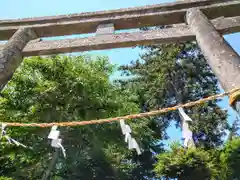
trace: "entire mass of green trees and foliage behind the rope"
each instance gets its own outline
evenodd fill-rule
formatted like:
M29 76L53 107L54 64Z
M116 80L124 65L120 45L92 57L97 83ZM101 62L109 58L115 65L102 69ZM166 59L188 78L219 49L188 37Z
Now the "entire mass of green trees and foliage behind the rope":
M220 92L195 42L142 48L147 51L139 60L120 68L129 78L114 82L110 77L117 68L107 57L26 58L1 92L1 121L110 118ZM7 127L7 134L27 148L1 139L0 179L240 179L238 123L228 124L228 114L218 102L184 109L193 120L190 129L196 148L163 145L170 122L181 128L178 111L127 121L142 149L139 156L128 150L118 122L59 127L66 159L51 147L50 128Z

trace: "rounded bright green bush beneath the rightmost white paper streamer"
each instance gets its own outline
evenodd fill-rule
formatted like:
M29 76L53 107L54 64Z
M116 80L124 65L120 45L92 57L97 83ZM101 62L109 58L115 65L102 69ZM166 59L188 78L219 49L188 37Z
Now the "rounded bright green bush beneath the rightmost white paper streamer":
M219 166L217 151L203 149L185 149L173 144L166 153L157 156L155 171L159 177L179 180L217 179Z

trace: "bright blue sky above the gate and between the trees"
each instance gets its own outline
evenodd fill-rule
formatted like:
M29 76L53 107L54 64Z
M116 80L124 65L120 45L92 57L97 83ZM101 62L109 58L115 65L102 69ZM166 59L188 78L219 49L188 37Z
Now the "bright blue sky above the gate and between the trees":
M25 18L36 16L51 16L69 13L89 12L98 10L109 10L127 8L134 6L174 2L175 0L5 0L1 2L0 19ZM232 47L240 53L240 33L231 34L225 37ZM104 51L93 51L90 54L108 56L114 64L127 64L136 60L141 53L138 48L124 48ZM228 107L228 99L224 98L221 103L224 108ZM234 113L230 110L229 121L231 122ZM170 141L179 140L181 133L174 128L168 130Z

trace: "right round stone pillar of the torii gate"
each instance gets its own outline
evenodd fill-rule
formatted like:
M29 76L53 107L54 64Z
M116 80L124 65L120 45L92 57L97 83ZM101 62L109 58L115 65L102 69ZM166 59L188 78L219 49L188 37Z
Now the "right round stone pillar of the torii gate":
M187 11L186 23L196 35L197 43L222 88L240 88L240 57L197 8ZM230 96L230 105L239 112L240 91Z

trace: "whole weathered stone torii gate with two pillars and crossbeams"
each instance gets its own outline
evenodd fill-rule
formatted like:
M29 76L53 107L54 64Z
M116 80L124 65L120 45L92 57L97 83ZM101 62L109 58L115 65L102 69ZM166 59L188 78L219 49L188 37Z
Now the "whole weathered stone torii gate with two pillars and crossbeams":
M116 30L173 25L144 32ZM136 8L0 21L0 87L23 57L196 40L225 91L240 87L240 57L223 34L240 31L239 0L187 0ZM42 37L95 33L88 38ZM240 92L230 97L235 108Z

